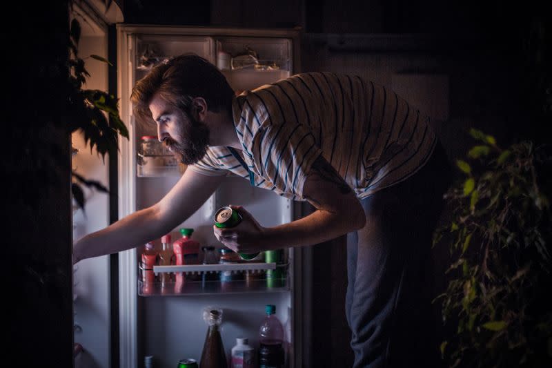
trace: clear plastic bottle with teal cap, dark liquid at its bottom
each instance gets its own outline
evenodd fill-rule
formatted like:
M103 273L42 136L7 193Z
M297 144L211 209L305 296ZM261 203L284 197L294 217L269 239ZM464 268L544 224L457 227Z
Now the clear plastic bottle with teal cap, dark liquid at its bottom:
M266 304L266 317L259 329L259 368L283 368L284 327L275 316L276 306Z

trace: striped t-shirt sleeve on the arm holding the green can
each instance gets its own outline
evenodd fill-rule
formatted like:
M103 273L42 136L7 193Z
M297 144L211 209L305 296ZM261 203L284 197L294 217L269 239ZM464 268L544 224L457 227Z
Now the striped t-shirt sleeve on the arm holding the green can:
M309 126L284 122L259 128L252 153L262 176L282 191L303 198L306 177L322 151Z

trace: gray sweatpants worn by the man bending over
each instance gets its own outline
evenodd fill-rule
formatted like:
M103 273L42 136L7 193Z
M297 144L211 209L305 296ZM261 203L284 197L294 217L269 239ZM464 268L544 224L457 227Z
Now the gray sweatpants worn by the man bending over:
M366 226L348 234L346 317L354 367L435 367L432 233L451 166L440 144L408 180L362 200Z

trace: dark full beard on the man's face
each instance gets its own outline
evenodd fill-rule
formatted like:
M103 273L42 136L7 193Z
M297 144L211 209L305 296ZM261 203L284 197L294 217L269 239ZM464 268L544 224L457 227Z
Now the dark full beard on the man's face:
M186 134L180 134L180 139L186 137L186 142L179 143L167 137L164 144L170 147L170 151L175 154L182 164L191 165L204 157L209 143L209 128L202 122L190 117L190 124L182 129L187 130Z

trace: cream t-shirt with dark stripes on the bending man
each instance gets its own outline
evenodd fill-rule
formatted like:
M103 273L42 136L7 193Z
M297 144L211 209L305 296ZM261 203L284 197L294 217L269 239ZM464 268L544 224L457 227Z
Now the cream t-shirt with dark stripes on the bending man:
M321 154L362 199L413 175L437 142L427 116L356 75L308 72L246 91L233 117L242 150L209 146L189 168L239 175L293 200L304 200Z

